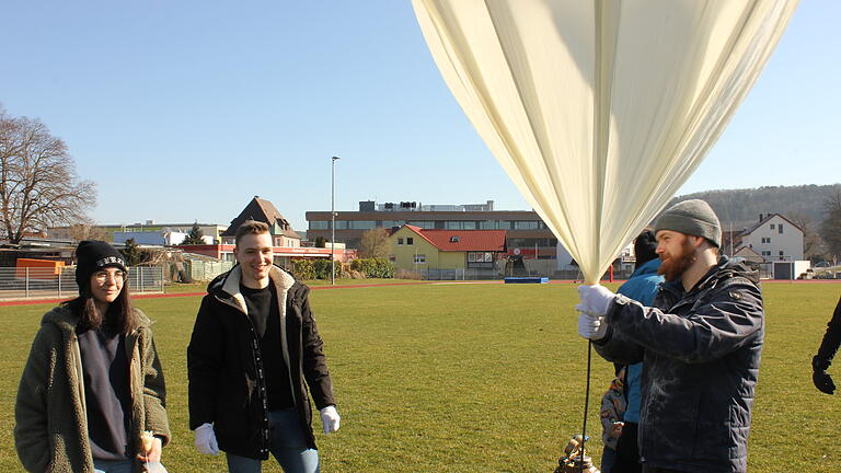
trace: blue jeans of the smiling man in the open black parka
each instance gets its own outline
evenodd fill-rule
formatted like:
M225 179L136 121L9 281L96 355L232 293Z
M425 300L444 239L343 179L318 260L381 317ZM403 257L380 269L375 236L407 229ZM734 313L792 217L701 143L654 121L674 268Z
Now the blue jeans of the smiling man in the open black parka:
M268 450L286 473L319 473L319 451L307 446L296 409L268 413ZM260 473L261 460L226 453L230 473Z

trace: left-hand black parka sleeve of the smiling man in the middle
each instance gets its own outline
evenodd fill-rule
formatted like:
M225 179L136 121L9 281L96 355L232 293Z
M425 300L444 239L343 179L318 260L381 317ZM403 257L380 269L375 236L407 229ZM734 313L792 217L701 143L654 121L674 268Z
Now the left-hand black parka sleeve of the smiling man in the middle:
M193 335L187 346L187 379L189 396L189 428L212 423L216 394L219 391L221 369L222 330L219 316L211 309L212 296L201 299Z

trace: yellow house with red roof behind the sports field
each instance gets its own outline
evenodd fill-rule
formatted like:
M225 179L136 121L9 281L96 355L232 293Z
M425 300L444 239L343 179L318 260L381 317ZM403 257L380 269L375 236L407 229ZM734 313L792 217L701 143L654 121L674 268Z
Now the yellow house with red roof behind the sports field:
M391 261L398 269L476 269L494 273L506 255L505 230L424 229L404 224L391 233Z

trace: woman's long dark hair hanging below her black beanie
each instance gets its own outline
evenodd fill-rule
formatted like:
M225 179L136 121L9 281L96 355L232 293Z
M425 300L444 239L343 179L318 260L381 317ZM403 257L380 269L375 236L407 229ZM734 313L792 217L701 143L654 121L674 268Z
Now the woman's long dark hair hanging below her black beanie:
M90 280L79 288L79 297L64 302L73 313L78 314L80 328L102 328L106 332L119 335L128 335L137 328L137 318L131 307L131 298L128 293L128 279L123 284L117 298L108 304L106 313L101 314L91 293Z

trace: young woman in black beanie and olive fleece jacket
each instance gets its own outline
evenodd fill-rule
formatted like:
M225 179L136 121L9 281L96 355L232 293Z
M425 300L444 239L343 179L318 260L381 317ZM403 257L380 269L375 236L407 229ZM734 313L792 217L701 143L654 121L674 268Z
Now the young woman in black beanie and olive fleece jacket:
M79 297L44 315L23 370L18 455L31 472L142 472L170 439L150 321L119 252L83 241L76 254Z

